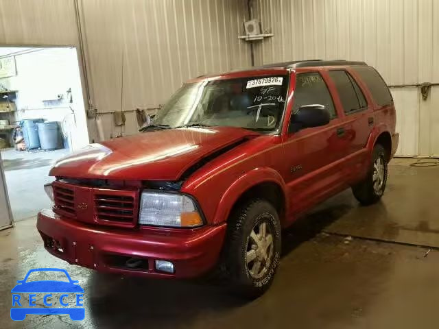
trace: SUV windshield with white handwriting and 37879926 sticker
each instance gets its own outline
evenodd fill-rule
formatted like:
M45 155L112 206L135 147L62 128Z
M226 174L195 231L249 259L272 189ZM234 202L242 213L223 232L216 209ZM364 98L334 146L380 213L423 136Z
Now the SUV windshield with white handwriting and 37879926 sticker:
M281 123L287 86L288 75L185 84L158 112L152 124L274 131Z

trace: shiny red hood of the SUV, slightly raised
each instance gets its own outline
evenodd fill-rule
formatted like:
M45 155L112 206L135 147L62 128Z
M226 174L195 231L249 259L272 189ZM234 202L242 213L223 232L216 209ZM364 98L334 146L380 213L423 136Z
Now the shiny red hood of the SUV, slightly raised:
M49 175L116 180L178 180L193 164L257 132L237 127L143 132L92 144L58 160Z

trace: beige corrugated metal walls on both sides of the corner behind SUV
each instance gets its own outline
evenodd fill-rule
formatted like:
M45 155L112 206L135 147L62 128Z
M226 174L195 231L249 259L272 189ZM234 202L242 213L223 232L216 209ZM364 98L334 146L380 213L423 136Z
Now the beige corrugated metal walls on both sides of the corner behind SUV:
M98 112L154 108L189 77L250 66L237 40L246 0L78 0L89 86ZM1 45L80 45L75 0L0 1ZM439 82L439 1L254 0L273 38L254 42L255 64L307 58L365 60L388 84ZM17 19L19 18L19 19ZM123 63L123 97L121 97ZM439 155L439 87L392 89L399 154ZM85 93L84 93L85 94ZM127 112L106 138L132 134ZM94 121L90 136L97 139Z

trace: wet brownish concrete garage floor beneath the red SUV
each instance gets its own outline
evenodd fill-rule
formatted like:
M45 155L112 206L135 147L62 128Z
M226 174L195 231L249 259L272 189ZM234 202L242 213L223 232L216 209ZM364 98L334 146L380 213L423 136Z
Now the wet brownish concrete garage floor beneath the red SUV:
M360 207L346 191L284 232L274 284L253 302L206 280L144 280L67 265L45 252L34 219L21 221L0 232L0 327L436 329L439 167L407 164L392 162L379 204ZM427 254L430 247L420 243L433 248ZM62 267L80 281L84 321L10 320L10 289L34 267Z

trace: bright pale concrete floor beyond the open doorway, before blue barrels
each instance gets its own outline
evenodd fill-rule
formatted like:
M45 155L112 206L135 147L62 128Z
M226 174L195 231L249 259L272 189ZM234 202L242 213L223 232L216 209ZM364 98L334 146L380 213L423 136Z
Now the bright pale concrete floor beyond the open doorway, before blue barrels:
M36 152L1 150L14 221L28 219L40 209L50 207L51 202L43 186L52 180L47 176L51 164L68 153L67 149Z

